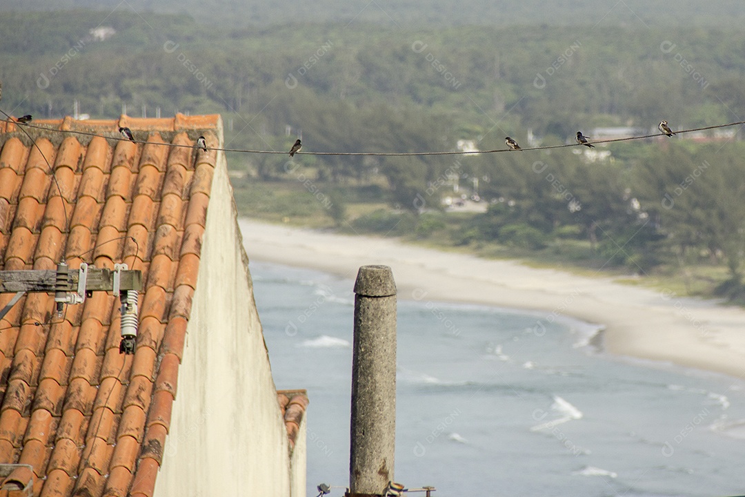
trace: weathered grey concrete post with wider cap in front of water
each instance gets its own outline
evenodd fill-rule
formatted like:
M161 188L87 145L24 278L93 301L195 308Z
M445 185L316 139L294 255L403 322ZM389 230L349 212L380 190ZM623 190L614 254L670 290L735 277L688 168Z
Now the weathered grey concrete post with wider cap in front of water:
M396 282L388 266L362 266L355 282L349 492L381 495L396 449Z

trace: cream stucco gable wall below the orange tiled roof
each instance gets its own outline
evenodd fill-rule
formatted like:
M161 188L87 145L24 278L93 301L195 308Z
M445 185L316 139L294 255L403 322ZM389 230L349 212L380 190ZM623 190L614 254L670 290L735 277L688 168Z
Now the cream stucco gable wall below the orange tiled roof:
M303 497L301 428L290 458L220 153L155 496Z

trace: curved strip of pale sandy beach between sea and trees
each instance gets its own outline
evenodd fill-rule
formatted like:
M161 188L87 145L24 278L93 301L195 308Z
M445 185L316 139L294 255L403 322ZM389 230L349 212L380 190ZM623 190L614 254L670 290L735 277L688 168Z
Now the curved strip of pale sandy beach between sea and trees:
M559 316L604 326L608 352L745 376L745 309L624 285L602 276L529 268L404 244L241 218L251 261L355 279L362 265L393 269L399 299L538 311L536 330ZM351 288L350 288L351 290Z

